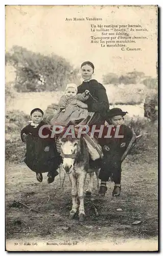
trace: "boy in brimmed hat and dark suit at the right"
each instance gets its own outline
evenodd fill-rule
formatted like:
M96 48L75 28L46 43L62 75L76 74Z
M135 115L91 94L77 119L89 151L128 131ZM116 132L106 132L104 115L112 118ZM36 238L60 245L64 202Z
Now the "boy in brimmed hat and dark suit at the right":
M99 194L103 196L107 191L106 182L109 178L114 181L112 196L120 196L121 193L121 158L132 138L131 129L123 124L124 116L127 113L119 108L109 110L106 121L114 125L111 128L111 138L104 138L107 134L107 131L104 130L102 138L99 139L104 153L99 174L99 179L101 180ZM121 137L123 138L114 136L117 127L120 129L118 135L122 135Z

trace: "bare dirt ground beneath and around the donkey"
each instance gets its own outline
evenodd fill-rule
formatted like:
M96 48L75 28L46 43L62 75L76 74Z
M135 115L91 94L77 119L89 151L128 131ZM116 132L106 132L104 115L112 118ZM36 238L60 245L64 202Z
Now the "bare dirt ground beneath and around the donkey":
M61 170L61 179L63 177ZM87 183L88 177L86 185ZM96 186L96 179L94 184ZM80 241L96 242L97 246L101 240L103 243L116 245L120 244L120 241L122 244L135 239L144 239L146 242L152 239L157 244L156 153L128 156L123 163L121 197L112 199L112 189L113 183L109 182L104 199L98 197L96 189L91 200L85 198L86 218L84 222L79 223L78 217L74 220L68 219L71 209L71 187L68 177L65 178L63 188L60 186L59 175L54 183L47 184L47 177L44 174L43 182L38 183L35 173L24 163L6 163L8 244L20 240L71 241L78 244ZM92 202L96 205L99 217L95 215ZM117 211L117 208L122 208L122 211ZM141 223L132 225L136 220ZM53 250L57 250L54 247Z

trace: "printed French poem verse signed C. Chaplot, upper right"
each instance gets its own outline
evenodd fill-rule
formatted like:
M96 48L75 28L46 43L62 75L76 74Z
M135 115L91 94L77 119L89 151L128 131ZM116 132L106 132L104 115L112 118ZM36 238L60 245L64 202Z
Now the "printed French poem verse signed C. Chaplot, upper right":
M140 41L148 40L142 25L90 25L90 43L100 47L120 47L122 51L142 51Z

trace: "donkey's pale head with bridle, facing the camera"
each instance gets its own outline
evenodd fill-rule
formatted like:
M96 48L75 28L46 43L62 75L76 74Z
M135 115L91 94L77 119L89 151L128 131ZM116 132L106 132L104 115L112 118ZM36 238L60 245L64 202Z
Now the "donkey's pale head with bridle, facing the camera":
M72 136L66 136L66 138L60 137L61 144L61 156L63 158L63 169L67 174L70 174L73 170L75 160L80 154L80 139L72 138Z

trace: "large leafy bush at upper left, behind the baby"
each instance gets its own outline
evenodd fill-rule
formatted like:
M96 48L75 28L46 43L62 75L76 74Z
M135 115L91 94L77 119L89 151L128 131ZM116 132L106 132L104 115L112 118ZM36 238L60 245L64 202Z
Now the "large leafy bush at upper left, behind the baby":
M78 70L64 58L44 56L14 46L6 53L6 63L16 69L15 88L18 92L54 91L66 83L78 82Z

